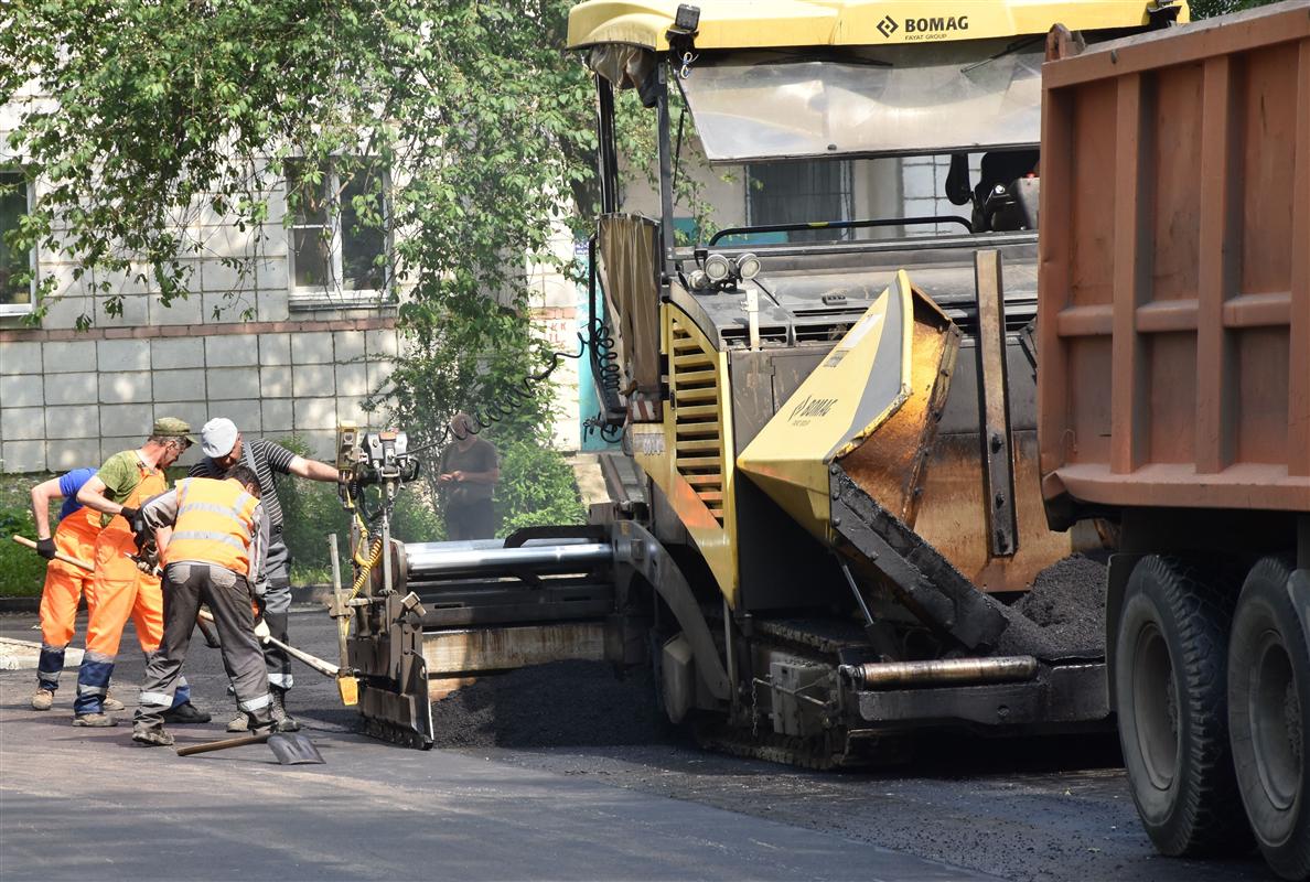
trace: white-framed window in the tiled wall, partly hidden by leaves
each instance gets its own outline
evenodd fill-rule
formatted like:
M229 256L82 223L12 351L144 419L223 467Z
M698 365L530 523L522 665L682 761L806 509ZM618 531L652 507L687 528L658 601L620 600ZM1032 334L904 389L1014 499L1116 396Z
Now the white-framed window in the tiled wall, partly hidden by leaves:
M322 307L383 301L390 290L390 218L376 172L310 180L288 166L291 304Z

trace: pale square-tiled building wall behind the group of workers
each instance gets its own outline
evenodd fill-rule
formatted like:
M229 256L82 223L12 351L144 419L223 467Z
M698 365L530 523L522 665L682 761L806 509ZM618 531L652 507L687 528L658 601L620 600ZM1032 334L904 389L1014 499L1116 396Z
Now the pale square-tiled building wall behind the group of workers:
M13 125L9 111L0 104L0 144ZM196 431L208 418L227 415L252 435L295 432L324 457L333 455L338 419L380 421L360 405L389 381L400 356L397 332L385 326L394 307L292 304L284 204L279 191L271 197L258 241L253 231L215 215L204 194L178 212L179 228L203 244L204 257L183 258L190 294L168 307L148 267L73 278L75 263L39 256L38 270L55 277L58 294L39 330L0 320L0 472L97 465L139 446L165 415ZM561 253L569 253L563 228L557 239ZM231 257L252 259L250 271L224 265ZM536 287L534 307L571 308L571 282L541 273ZM105 312L110 297L121 299L122 315ZM89 333L73 333L84 317ZM565 446L576 444L575 367L569 362L558 372ZM193 450L182 463L198 456Z

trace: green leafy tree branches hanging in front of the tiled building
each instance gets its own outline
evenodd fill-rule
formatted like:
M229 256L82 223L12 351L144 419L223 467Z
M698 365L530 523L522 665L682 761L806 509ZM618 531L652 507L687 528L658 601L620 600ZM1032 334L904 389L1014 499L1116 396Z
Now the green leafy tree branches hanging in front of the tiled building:
M4 153L42 181L12 244L75 262L117 313L124 290L189 296L190 258L214 257L194 221L225 219L253 242L223 252L242 304L270 225L329 182L363 182L325 202L392 242L375 269L406 338L369 406L431 456L457 410L504 417L489 432L502 448L546 443L550 388L524 377L553 359L531 332L527 266L554 263L553 224L582 232L596 211L595 90L563 48L570 5L10 0L0 102L20 125ZM629 168L652 178L654 114L620 101ZM679 180L692 214L693 176ZM38 282L34 321L60 294Z

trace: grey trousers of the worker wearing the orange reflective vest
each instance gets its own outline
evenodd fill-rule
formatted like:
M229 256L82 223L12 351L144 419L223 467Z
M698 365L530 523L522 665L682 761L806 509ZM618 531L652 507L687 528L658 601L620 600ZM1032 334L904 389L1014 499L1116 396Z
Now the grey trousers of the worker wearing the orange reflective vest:
M172 564L164 570L164 641L145 666L136 722L162 726L173 705L186 650L202 603L214 613L221 643L223 667L237 693L237 706L259 725L271 721L269 676L254 636L250 586L244 575L207 564Z

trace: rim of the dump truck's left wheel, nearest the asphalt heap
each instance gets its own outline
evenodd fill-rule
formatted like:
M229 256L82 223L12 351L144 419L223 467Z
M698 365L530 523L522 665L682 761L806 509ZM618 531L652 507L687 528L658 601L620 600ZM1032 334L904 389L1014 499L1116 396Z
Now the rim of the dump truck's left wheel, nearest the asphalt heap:
M1169 790L1178 773L1178 693L1169 645L1154 624L1142 628L1133 653L1133 709L1146 777Z

